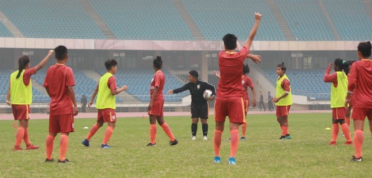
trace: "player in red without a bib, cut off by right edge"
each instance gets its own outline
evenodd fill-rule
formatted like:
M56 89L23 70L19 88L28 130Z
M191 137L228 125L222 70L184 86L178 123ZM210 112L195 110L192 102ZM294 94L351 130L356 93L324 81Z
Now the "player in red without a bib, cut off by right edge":
M350 95L354 94L352 103L354 120L354 149L355 154L351 160L362 161L363 127L364 119L368 118L369 130L372 133L372 60L369 59L371 52L370 42L362 42L358 45L359 61L354 62L350 69L350 81L346 95L345 108L351 104Z

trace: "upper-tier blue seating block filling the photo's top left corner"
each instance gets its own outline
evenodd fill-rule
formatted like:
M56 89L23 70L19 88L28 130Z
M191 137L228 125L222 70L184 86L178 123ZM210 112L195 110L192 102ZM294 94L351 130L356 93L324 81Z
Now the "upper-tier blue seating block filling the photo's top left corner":
M26 38L104 39L94 21L73 0L2 1L0 10ZM1 25L0 30L3 34Z

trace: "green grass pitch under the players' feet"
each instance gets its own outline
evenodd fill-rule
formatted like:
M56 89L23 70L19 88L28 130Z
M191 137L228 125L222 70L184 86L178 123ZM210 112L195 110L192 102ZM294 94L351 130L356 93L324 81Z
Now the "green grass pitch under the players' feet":
M179 141L167 146L168 137L158 126L157 146L149 142L148 118L119 118L109 141L111 149L101 149L102 127L91 139L91 146L80 142L95 119L76 119L75 133L70 134L67 158L71 164L44 163L47 120L31 120L29 134L37 150L13 151L16 129L14 121L0 121L0 177L366 177L372 173L372 142L365 127L363 162L349 161L353 146L328 146L331 138L331 114L292 114L289 117L291 140L278 140L281 131L274 114L250 115L247 140L239 142L237 165L228 165L230 135L223 134L222 163L213 163L213 119L209 122L209 140L202 140L201 124L198 139L191 140L190 117L166 117ZM228 123L226 123L228 124ZM227 126L227 125L226 125ZM226 127L228 128L228 127ZM353 133L353 127L351 126ZM340 132L341 134L341 132ZM25 148L24 142L21 145ZM57 160L59 137L54 141L53 157Z

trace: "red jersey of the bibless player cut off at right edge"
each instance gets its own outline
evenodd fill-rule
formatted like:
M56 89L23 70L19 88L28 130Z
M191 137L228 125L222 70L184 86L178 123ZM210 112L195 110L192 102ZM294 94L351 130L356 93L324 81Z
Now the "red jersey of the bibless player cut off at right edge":
M372 60L362 59L351 65L348 91L353 92L353 108L372 109Z

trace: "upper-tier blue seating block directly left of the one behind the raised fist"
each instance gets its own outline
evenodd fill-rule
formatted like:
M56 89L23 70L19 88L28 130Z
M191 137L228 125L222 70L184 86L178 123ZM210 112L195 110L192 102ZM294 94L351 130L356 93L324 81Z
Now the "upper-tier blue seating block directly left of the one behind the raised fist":
M194 40L171 0L89 2L118 39Z

